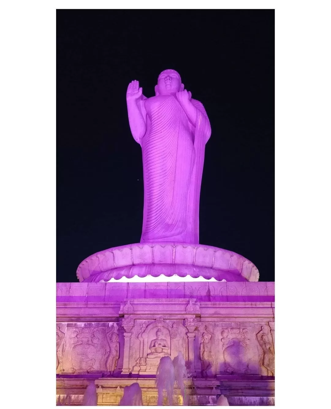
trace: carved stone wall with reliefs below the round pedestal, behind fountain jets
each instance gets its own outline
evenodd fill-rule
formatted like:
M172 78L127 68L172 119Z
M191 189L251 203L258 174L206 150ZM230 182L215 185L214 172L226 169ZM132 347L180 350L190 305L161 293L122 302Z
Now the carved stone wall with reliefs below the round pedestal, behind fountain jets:
M202 404L217 387L233 405L273 404L274 283L58 283L56 338L58 377L93 376L106 388L100 405L117 405L118 379L151 378L155 389L160 357L179 351L195 382L191 400L200 396ZM196 382L207 382L208 393L198 393ZM252 395L258 382L265 391ZM151 387L144 396L153 405Z

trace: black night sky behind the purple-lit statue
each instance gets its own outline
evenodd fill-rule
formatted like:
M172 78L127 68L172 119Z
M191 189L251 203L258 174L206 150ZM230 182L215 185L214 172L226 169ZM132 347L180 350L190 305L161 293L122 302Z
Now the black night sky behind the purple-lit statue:
M200 243L274 281L274 10L57 11L57 281L140 241L142 153L126 91L177 70L211 123Z

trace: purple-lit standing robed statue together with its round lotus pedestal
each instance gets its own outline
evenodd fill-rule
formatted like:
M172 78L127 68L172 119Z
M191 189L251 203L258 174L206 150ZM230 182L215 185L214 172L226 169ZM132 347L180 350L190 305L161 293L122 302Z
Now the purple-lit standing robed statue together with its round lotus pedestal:
M258 269L240 254L199 244L204 148L211 135L202 103L191 98L174 70L161 72L155 92L154 97L144 97L138 81L127 88L131 133L142 148L140 243L92 254L78 266L78 279L108 282L139 276L150 280L162 274L164 281L188 275L193 279L258 281Z

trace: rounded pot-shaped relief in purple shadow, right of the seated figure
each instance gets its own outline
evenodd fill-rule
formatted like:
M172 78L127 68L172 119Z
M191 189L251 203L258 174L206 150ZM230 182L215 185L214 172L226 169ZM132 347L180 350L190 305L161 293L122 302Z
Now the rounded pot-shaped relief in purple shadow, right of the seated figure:
M247 328L227 328L221 332L225 370L249 373L249 338Z

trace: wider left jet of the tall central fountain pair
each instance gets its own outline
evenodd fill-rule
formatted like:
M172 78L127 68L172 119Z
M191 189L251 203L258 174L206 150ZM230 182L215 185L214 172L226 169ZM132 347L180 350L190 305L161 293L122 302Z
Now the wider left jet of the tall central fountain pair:
M158 406L163 403L163 390L167 392L168 404L172 406L175 369L171 357L162 357L156 370L156 387L158 388Z

